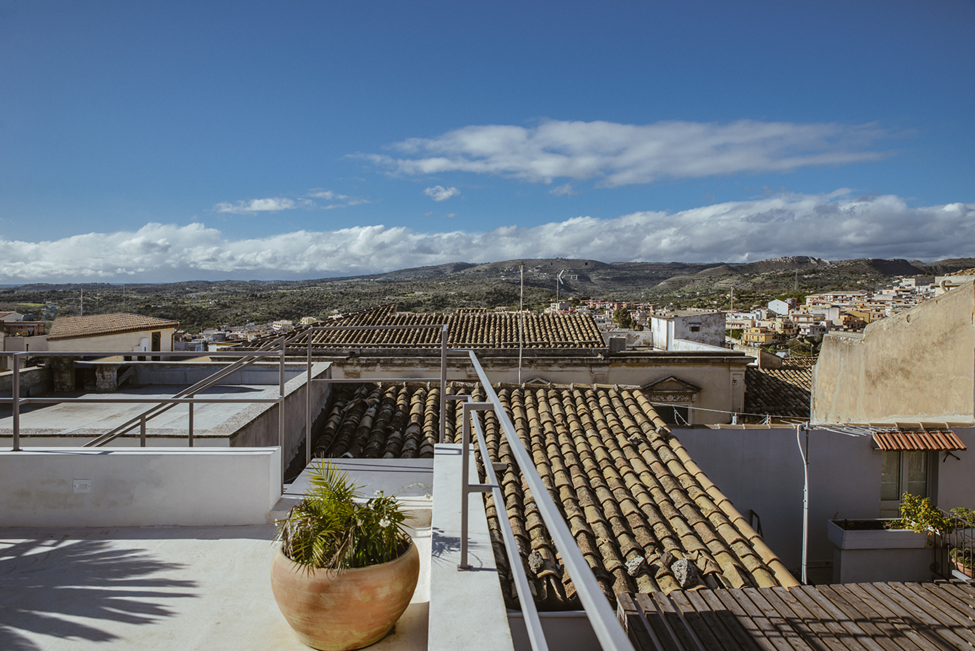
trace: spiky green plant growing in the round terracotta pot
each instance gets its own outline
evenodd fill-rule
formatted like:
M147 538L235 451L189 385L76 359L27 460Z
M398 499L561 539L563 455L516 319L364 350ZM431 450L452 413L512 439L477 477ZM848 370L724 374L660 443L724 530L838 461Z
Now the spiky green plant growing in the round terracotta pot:
M343 570L388 562L409 549L406 515L380 491L365 503L348 473L319 459L305 499L278 521L276 540L295 563Z

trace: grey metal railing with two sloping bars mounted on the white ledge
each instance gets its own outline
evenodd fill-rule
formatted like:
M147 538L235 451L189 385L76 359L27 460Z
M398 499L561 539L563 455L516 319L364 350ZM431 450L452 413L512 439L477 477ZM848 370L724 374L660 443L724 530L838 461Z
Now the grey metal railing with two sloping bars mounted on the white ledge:
M552 496L549 495L545 484L542 483L542 479L535 469L531 455L528 454L525 446L522 444L518 430L515 429L511 418L509 418L508 413L504 410L504 406L498 399L494 387L491 387L490 381L487 379L487 374L484 368L481 367L481 362L473 350L468 350L467 352L470 355L474 369L477 371L478 378L481 380L481 386L484 387L485 393L487 394L487 402L474 402L473 398L467 398L467 396L449 396L455 399L463 397L468 400L463 404L463 427L461 434L460 564L457 569L463 571L469 567L467 563L467 496L471 492L483 493L489 491L494 498L494 506L499 511L498 520L504 538L504 547L507 551L508 561L515 578L515 586L518 590L522 610L525 613L528 640L531 642L531 648L534 651L548 650L545 633L542 631L541 620L538 618L534 598L528 587L521 553L515 541L515 534L511 529L511 523L508 520L504 496L501 493L500 484L497 481L497 476L494 473L494 468L487 452L487 442L481 429L481 423L479 419L471 418L474 412L492 411L508 440L508 445L511 448L512 456L515 458L515 463L518 465L518 468L521 468L528 490L531 491L535 506L538 508L538 513L542 516L542 520L548 528L549 535L552 536L556 549L562 555L565 568L572 578L572 585L579 595L579 600L582 602L582 607L586 611L589 624L593 627L593 631L596 633L600 645L604 651L633 651L633 644L630 642L630 638L627 636L626 631L623 630L623 626L619 623L619 620L616 619L615 612L613 612L603 590L596 581L596 575L593 574L589 563L586 562L582 552L575 544L575 539L572 537L568 525L565 524L562 511L559 510ZM441 401L442 408L445 402L446 400ZM470 422L472 420L474 421L475 431L478 435L481 458L484 461L485 476L487 478L487 482L483 484L471 484L468 476L471 434Z

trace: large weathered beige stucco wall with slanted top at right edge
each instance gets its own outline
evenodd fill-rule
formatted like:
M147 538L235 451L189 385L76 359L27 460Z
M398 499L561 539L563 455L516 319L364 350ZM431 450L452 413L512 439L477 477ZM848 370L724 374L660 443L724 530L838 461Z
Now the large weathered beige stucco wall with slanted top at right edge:
M975 423L975 286L827 335L813 369L814 423Z

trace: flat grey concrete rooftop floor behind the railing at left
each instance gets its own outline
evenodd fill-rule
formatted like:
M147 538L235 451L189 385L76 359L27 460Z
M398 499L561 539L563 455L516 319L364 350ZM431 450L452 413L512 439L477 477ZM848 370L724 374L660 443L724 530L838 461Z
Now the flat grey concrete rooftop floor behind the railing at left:
M70 393L65 397L99 397L111 400L117 397L144 396L147 403L118 403L111 402L81 402L60 403L54 405L28 404L20 408L20 430L24 435L52 436L52 435L98 435L104 431L122 425L136 417L151 405L154 398L172 397L188 385L148 385L144 387L123 387L112 393ZM268 395L263 395L267 392ZM199 397L215 398L243 398L243 397L277 397L277 385L218 385L206 391L201 391ZM57 397L57 396L54 396ZM224 423L241 410L247 408L247 403L197 403L193 407L193 429L205 433ZM181 432L185 436L189 427L189 409L187 405L176 405L166 413L151 419L147 423L149 435L170 434ZM9 404L0 405L0 436L11 436L13 427L13 411ZM133 430L138 435L138 427Z

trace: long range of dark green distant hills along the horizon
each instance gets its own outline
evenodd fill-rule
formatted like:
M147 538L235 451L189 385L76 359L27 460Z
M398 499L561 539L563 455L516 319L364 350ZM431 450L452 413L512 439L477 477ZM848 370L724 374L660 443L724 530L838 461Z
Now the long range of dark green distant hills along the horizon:
M525 263L525 305L555 298L556 277L566 269L561 297L587 296L660 305L726 308L733 288L736 307L770 298L828 290L873 289L896 276L934 276L975 267L965 258L923 263L907 260L828 261L807 256L729 263L604 263L545 258L473 264L456 262L385 273L308 280L192 280L177 283L84 283L85 313L130 311L175 319L198 332L222 324L323 318L335 311L395 302L403 310L441 311L471 306L519 305L520 266ZM55 316L80 312L79 283L31 283L0 288L0 310Z

